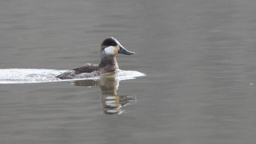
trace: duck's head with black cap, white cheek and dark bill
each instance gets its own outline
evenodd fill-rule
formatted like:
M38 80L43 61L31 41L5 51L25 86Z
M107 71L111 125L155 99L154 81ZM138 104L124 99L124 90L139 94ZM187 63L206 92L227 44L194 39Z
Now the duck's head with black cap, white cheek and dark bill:
M116 56L117 54L131 55L135 52L126 50L115 38L108 37L104 39L100 46L100 57L102 56Z

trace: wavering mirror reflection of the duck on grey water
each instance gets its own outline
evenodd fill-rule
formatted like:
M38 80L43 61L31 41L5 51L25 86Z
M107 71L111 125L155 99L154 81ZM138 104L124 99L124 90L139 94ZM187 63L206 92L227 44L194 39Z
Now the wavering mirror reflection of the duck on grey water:
M135 96L117 95L119 80L115 77L101 77L98 80L75 81L76 86L100 86L100 103L103 105L105 114L121 114L124 110L121 107L136 102Z

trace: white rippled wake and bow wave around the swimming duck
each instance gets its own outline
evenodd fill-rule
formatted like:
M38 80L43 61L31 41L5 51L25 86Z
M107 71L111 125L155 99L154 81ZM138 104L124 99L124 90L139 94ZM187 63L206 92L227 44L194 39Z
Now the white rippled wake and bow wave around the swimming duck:
M82 79L61 80L56 78L67 70L56 69L0 69L0 84L19 84L19 83L38 83L38 82L56 82L56 81L74 81L99 79L100 77L89 77ZM116 80L128 80L135 77L143 76L145 74L138 71L123 71L116 70L114 74L106 75L104 77L115 77Z

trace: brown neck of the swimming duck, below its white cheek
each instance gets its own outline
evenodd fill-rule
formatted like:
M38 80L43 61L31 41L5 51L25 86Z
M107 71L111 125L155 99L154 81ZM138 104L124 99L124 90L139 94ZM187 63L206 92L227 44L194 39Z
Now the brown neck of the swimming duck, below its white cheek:
M117 60L115 59L115 57L104 56L100 60L99 67L104 68L106 71L118 69Z

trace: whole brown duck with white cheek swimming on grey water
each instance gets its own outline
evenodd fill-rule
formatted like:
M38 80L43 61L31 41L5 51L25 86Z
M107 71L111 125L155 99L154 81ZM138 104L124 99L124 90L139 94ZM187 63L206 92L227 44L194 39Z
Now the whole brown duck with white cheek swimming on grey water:
M130 52L125 49L115 38L107 37L100 45L100 64L87 63L81 67L61 73L60 75L57 75L56 78L78 79L97 77L114 72L116 69L119 69L115 58L117 54L132 55L135 54L135 52Z

